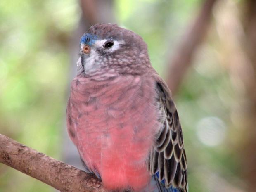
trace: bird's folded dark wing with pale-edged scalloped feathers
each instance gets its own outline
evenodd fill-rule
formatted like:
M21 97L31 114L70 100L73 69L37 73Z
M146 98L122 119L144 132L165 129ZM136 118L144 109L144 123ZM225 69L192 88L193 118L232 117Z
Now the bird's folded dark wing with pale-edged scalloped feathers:
M179 116L166 83L157 78L161 130L150 153L148 168L159 192L188 192L187 160Z

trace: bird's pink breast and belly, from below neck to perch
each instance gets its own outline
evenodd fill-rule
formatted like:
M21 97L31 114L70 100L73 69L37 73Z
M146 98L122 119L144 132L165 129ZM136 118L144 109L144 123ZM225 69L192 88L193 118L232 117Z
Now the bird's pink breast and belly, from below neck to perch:
M130 76L95 84L78 78L71 87L67 116L76 122L69 128L85 164L109 190L141 191L149 184L146 161L159 130L154 82Z

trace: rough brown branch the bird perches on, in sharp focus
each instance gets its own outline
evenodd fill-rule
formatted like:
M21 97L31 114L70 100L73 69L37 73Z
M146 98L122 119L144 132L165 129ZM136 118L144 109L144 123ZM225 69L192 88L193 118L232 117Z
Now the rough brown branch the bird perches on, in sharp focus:
M0 163L62 192L104 192L95 176L37 152L0 134Z

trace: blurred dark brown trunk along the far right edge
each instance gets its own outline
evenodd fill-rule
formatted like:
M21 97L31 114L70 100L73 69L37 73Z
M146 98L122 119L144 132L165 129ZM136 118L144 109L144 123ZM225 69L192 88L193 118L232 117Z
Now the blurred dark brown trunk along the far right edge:
M246 84L248 97L251 100L247 118L248 127L245 133L243 150L244 175L247 179L249 192L256 191L256 0L244 1L245 49L252 65L254 78Z

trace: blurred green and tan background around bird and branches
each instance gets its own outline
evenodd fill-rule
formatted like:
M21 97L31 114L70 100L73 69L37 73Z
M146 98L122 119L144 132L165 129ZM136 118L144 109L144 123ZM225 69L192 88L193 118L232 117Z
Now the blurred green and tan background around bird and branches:
M256 59L248 51L255 45L247 44L256 33L249 28L251 2L215 3L208 33L194 47L187 73L173 93L183 126L190 192L255 189L251 181L256 180L256 152L250 141L256 138L251 91L256 84ZM79 31L81 23L105 21L101 15L111 11L106 13L112 17L109 22L140 34L148 44L152 65L167 79L169 60L204 1L105 3L109 5L94 12L98 17L85 21L77 0L0 1L1 134L65 161L65 110L78 42L86 30L80 27ZM0 192L17 191L55 190L0 164Z

